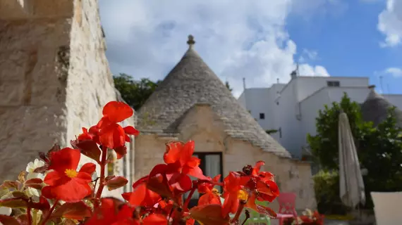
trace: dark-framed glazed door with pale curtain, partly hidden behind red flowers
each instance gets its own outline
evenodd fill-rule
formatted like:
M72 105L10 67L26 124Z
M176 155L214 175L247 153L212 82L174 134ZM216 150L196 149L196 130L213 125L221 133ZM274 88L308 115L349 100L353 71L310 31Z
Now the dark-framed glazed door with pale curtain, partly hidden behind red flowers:
M200 168L204 172L205 176L210 176L214 178L223 172L223 165L222 165L222 154L221 153L194 153L194 156L201 160ZM194 179L191 177L191 179ZM223 178L221 177L221 181ZM194 179L196 180L196 179ZM221 186L215 186L220 193L222 193ZM184 200L187 198L188 193L186 193L183 197ZM191 197L190 203L188 207L194 207L198 203L198 198L200 198L200 194L195 191L193 196Z

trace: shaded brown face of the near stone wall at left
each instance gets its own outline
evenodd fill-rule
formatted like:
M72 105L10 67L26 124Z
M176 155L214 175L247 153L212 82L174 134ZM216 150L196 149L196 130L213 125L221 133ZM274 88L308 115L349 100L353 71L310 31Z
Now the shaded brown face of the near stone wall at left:
M0 8L5 8L1 4ZM49 150L53 143L66 146L68 58L63 56L63 49L69 45L71 19L59 15L32 19L1 15L2 180L15 179L39 151Z

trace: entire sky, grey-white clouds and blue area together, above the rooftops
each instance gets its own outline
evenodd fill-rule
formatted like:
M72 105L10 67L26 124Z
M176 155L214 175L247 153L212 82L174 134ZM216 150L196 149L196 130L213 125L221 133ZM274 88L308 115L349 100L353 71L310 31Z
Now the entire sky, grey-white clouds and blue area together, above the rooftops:
M233 4L233 2L235 4ZM163 79L195 49L235 96L300 75L367 76L402 94L401 0L99 0L112 72ZM388 87L389 86L389 91ZM382 91L382 90L379 90Z

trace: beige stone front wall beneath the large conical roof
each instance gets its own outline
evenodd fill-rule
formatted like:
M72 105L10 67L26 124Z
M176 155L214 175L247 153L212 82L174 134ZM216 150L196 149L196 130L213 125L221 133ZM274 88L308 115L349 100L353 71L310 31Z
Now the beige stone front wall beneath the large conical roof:
M316 207L310 164L288 158L279 158L273 153L263 152L245 141L232 139L224 132L224 126L208 105L195 105L186 113L179 125L180 134L162 137L157 134L140 134L135 140L135 179L145 176L150 169L163 162L162 155L167 141L195 141L195 152L222 153L223 174L239 171L245 165L265 161L262 168L276 175L281 192L298 195L296 208ZM279 209L274 201L271 207Z

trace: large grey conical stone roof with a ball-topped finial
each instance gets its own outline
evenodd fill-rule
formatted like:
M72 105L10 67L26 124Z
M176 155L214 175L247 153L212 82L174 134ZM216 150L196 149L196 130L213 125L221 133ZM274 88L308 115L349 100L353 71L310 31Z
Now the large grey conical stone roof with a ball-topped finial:
M291 154L238 104L231 91L193 49L194 43L190 36L188 51L138 110L138 129L142 133L177 134L177 126L190 108L208 104L221 118L226 134L233 139L248 141L264 151L291 158Z

